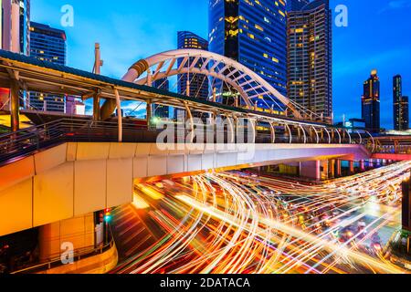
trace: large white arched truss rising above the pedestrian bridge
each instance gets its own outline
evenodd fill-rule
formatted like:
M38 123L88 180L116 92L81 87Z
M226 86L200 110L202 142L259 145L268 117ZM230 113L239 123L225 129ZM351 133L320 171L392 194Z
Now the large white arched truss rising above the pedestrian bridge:
M256 102L261 100L269 109L276 105L297 119L321 119L310 110L287 99L251 69L228 57L204 50L178 49L142 59L132 65L123 80L152 86L156 80L182 75L186 75L187 80L192 80L195 75L205 76L210 80L210 92L216 89L216 84L226 84L236 89L241 98L239 104L245 105L248 110L253 110ZM185 93L195 95L194 92ZM210 99L212 98L210 93ZM270 101L271 106L267 101Z

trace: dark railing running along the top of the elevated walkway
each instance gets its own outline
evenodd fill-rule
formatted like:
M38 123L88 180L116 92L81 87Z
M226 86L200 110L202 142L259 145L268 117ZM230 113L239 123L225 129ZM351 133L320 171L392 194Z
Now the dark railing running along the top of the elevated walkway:
M186 138L190 136L191 129L179 130L178 125L173 121L171 123L176 126L173 137L174 141L165 140L162 142L181 143L187 141ZM214 142L227 143L232 141L229 138L230 135L232 136L230 130L209 130L204 125L199 127L205 128L203 131L204 138L196 137L194 142L208 143L207 139L209 136L214 137ZM253 137L254 141L256 143L287 144L363 144L364 146L368 145L370 151L374 149L374 143L369 143L371 140L362 137L361 134L349 135L347 134L348 132L340 133L339 130L334 130L335 132L333 133L330 131L321 133L317 130L303 130L298 127L291 128L290 126L282 128L279 126L273 129L274 132L270 132L270 130L256 130ZM125 121L122 124L122 141L153 143L157 141L161 131L147 127L147 125ZM244 139L241 142L248 142L248 131L245 130L244 134L245 137L243 137ZM204 141L199 141L201 139L204 139ZM116 121L62 119L0 135L0 165L10 161L13 162L41 149L47 149L48 147L69 141L116 142L118 141L118 124ZM238 137L235 137L234 141L239 142Z

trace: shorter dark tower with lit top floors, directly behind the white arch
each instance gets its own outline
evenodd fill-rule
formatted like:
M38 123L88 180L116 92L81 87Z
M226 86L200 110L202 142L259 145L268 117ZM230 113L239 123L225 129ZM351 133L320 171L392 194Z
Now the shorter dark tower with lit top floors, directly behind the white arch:
M193 49L202 49L208 50L208 42L189 31L179 31L177 33L177 46L178 48L193 48ZM193 61L194 58L191 58L187 62L186 67L189 66L190 61ZM181 60L178 61L180 66ZM202 62L198 62L198 66L203 66ZM204 75L191 75L190 78L190 90L187 94L187 74L178 76L178 93L184 95L190 95L197 99L207 99L208 98L208 78Z

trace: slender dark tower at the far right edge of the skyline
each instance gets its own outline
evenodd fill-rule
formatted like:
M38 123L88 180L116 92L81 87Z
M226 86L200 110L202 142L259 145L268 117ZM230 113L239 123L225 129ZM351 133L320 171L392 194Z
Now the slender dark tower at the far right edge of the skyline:
M403 97L403 80L401 75L393 78L394 129L408 130L408 98Z

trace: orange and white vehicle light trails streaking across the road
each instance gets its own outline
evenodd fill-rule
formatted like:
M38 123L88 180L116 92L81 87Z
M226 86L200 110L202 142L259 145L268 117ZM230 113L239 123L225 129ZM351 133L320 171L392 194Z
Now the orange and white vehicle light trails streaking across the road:
M245 172L139 184L137 212L163 237L115 272L405 273L374 246L400 225L410 170L400 162L322 184Z

